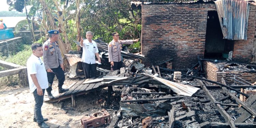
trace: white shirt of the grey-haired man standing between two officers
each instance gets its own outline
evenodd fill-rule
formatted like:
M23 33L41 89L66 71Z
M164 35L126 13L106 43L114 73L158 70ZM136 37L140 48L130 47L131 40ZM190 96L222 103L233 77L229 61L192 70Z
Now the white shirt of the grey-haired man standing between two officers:
M98 52L99 50L95 41L91 40L91 43L90 43L87 39L83 40L82 62L85 62L88 64L96 63L95 53L98 53Z

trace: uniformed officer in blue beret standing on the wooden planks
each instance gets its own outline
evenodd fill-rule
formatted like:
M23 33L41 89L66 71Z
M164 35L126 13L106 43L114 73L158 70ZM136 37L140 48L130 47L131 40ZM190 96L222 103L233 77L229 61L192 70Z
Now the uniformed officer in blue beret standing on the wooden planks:
M58 30L48 31L49 39L43 44L43 60L45 69L47 72L47 79L49 83L49 87L46 89L49 99L53 99L52 84L54 76L56 75L58 79L58 88L59 93L63 93L68 89L63 89L62 85L65 81L64 70L65 67L63 65L63 58L61 56L60 48L57 43L58 40Z

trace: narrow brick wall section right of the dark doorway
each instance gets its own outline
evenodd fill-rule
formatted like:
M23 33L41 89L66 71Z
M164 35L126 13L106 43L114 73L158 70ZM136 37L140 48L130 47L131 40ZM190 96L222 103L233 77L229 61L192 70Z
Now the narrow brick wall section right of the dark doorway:
M251 62L253 57L253 43L255 40L256 6L250 5L247 40L234 41L233 60L238 62Z

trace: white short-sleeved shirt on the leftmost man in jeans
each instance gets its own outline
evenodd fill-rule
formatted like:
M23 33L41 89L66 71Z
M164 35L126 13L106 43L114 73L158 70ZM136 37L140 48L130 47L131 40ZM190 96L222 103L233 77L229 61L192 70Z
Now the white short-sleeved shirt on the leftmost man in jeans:
M35 55L31 55L27 61L27 71L28 71L28 82L30 91L33 92L37 87L35 86L31 74L35 74L38 83L42 89L48 88L47 73L44 68L44 62Z

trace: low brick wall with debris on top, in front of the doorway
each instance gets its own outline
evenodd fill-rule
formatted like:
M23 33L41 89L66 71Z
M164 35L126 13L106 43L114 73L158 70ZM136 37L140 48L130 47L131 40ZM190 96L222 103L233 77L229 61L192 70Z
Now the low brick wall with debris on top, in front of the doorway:
M222 77L226 81L227 84L233 84L234 80L232 80L230 77L234 77L230 75L229 73L236 75L237 77L240 77L241 79L254 83L256 81L256 73L255 72L242 72L242 71L230 71L230 72L222 72L221 70L218 70L216 66L209 61L204 61L203 63L203 70L205 73L205 77L212 81L217 81L221 83ZM237 79L239 80L239 79ZM241 81L241 80L239 80ZM244 82L245 83L245 82ZM242 85L239 82L236 82L238 85ZM246 83L247 84L247 83Z

